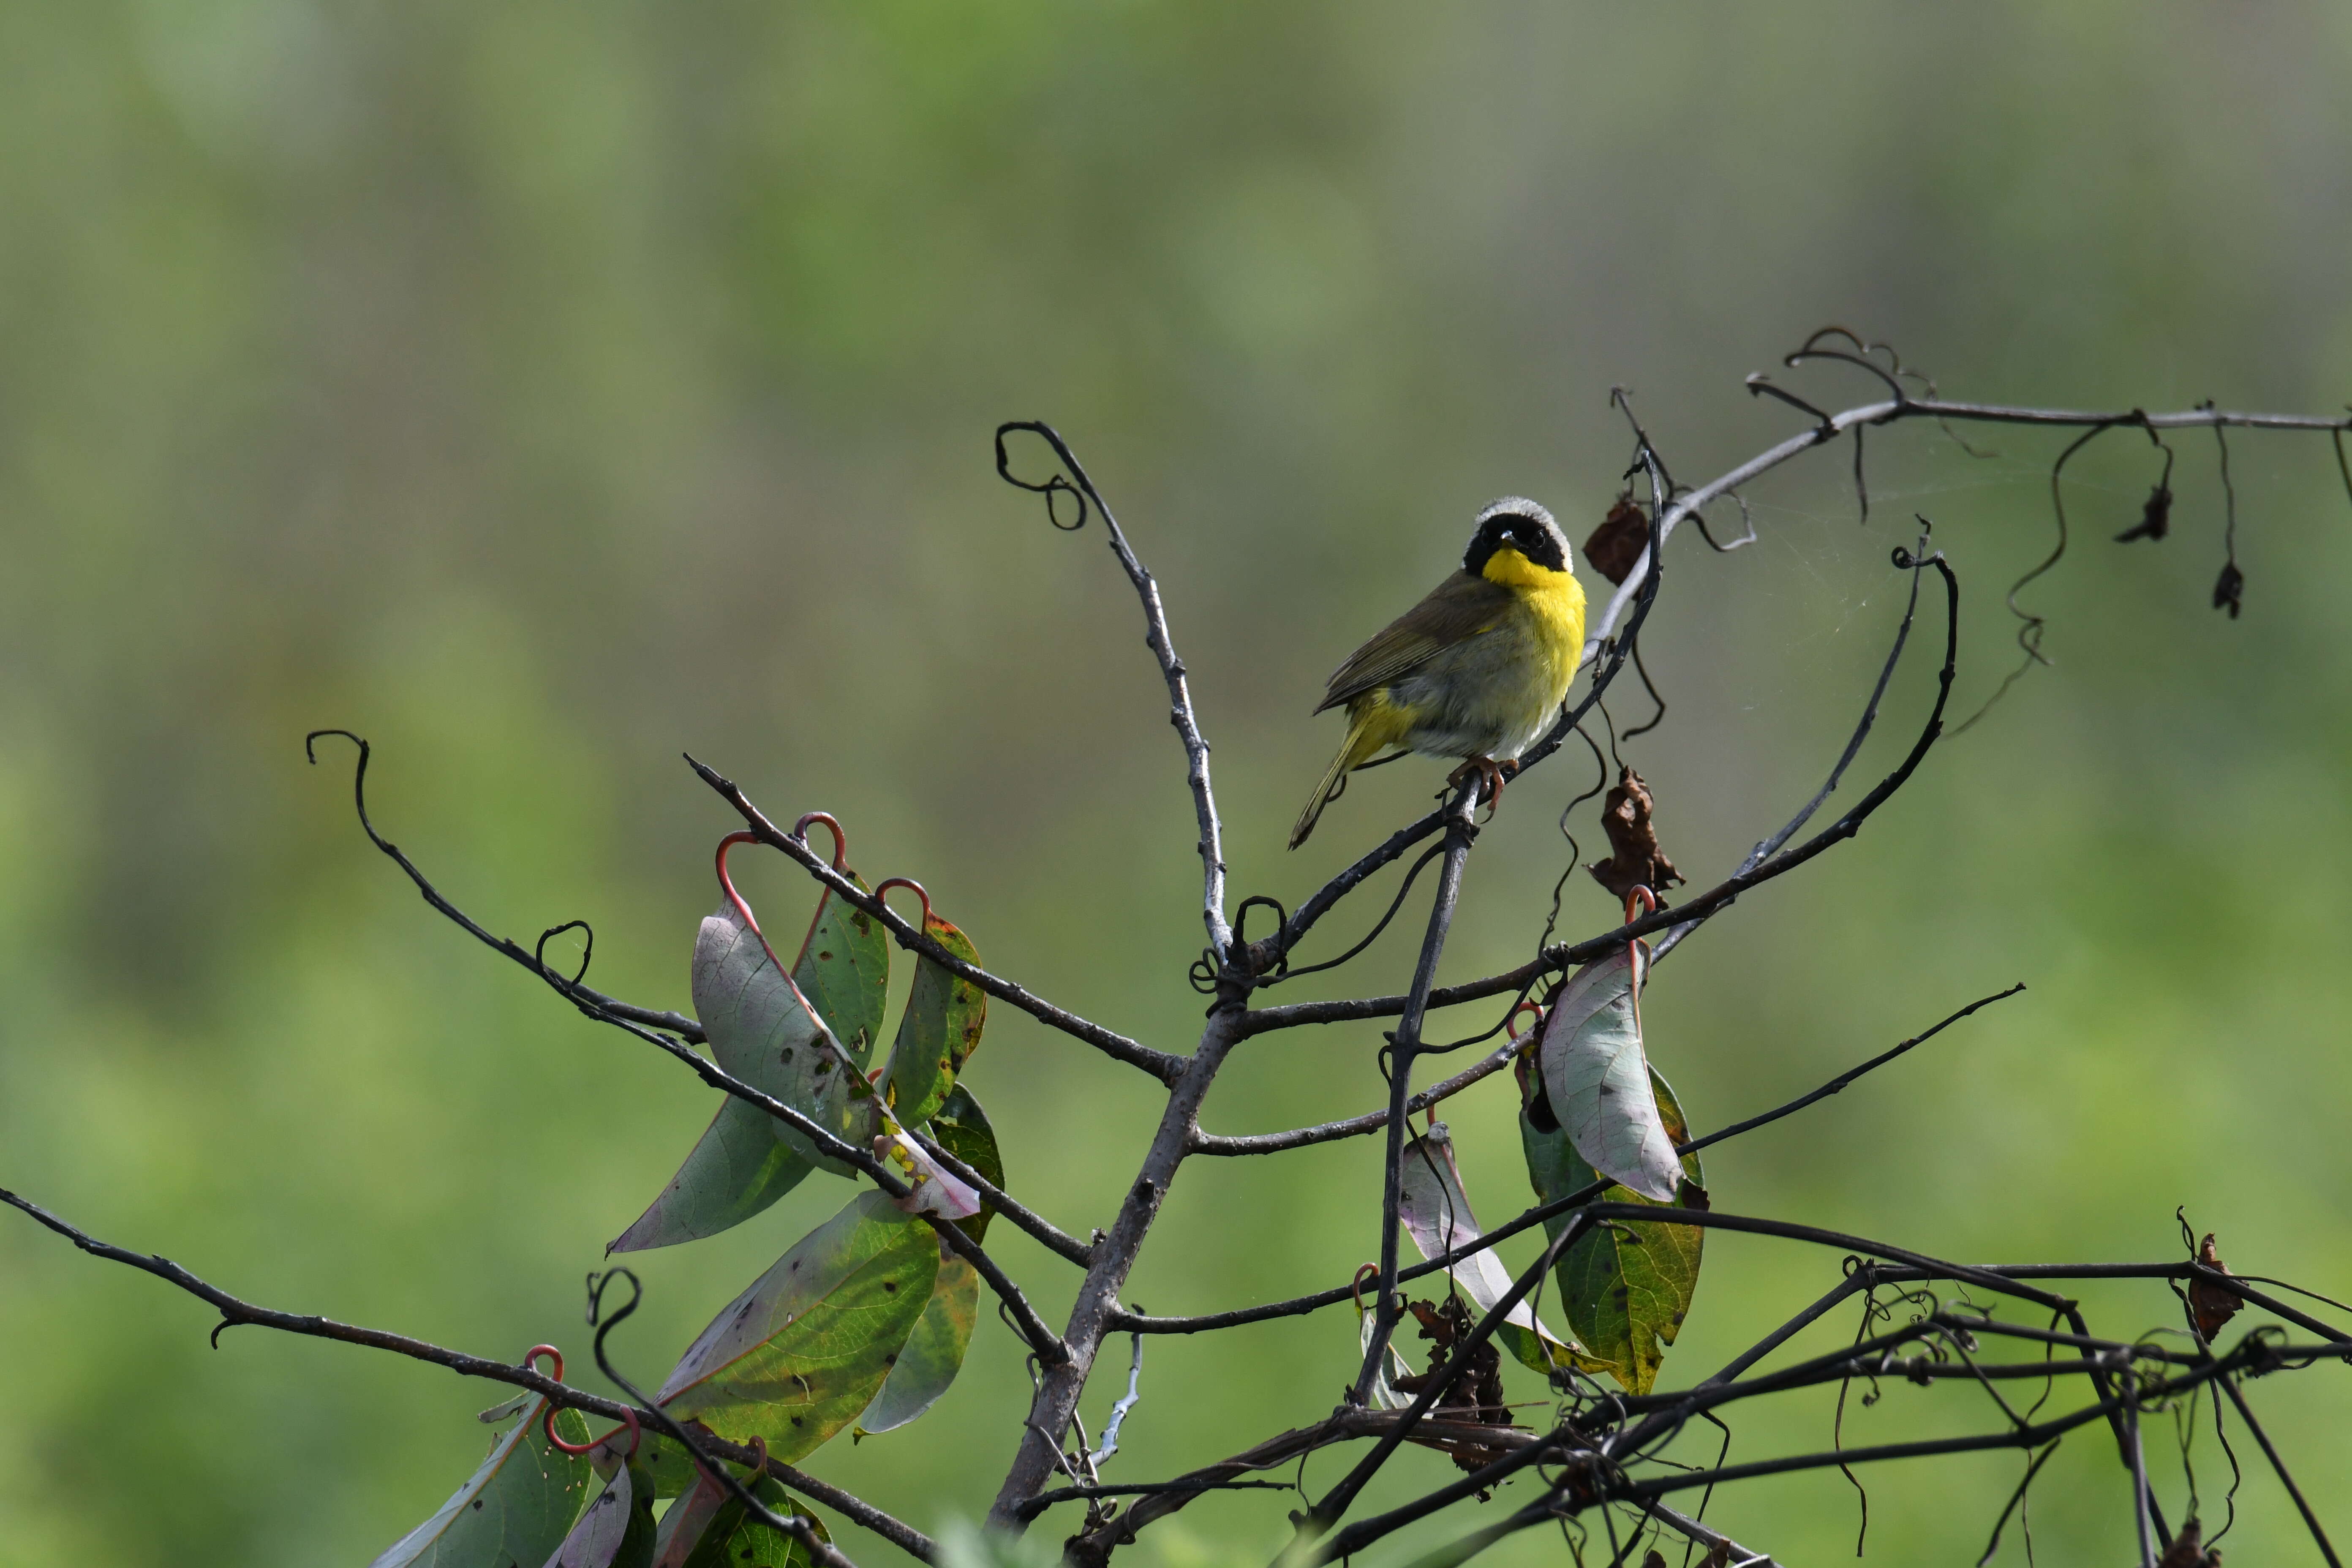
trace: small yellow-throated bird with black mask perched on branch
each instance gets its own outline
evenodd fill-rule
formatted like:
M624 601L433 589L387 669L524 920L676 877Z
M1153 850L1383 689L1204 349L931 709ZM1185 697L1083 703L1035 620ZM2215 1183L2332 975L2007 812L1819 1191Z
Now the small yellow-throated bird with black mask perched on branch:
M1461 757L1496 795L1503 766L1543 738L1585 649L1585 590L1569 541L1534 501L1477 515L1463 569L1331 672L1324 708L1348 705L1348 738L1291 827L1291 849L1350 769L1381 752Z

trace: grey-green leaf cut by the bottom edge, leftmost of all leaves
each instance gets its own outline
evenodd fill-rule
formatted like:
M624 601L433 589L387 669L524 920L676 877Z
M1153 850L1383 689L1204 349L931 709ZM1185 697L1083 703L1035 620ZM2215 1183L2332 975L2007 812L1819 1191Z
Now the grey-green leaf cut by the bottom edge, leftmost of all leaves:
M546 1563L581 1512L593 1474L588 1460L548 1443L541 1410L546 1401L532 1399L522 1420L489 1446L489 1458L466 1486L433 1519L386 1547L369 1568ZM579 1410L557 1413L555 1425L564 1441L588 1441Z

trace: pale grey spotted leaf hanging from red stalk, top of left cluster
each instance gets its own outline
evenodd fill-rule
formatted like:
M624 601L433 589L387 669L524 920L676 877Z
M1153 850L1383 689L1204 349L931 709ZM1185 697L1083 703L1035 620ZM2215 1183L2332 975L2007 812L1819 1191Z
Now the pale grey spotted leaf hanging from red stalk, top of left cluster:
M858 919L866 917L858 914ZM830 957L823 961L811 957L809 961L818 978L847 992L854 990L849 980L861 978L854 964L856 950L847 940L830 947L821 940L837 924L818 912L816 929L809 933L809 954ZM873 926L870 919L866 924ZM694 940L694 1013L710 1037L710 1056L729 1074L776 1095L844 1143L866 1147L873 1138L877 1126L873 1086L858 1067L849 1065L863 1058L847 1051L828 1032L800 985L776 969L760 933L743 924L734 900L720 900L717 912L703 919ZM866 1041L870 1051L870 1030L866 1030ZM835 1175L851 1173L851 1166L821 1159L800 1131L783 1121L771 1126L776 1138L800 1159Z

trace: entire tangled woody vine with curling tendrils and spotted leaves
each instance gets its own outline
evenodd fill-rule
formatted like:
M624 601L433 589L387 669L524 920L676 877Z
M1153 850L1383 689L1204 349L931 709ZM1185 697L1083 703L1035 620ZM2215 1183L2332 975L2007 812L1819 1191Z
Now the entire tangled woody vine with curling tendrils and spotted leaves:
M1875 378L1879 395L1828 411L1766 376L1752 376L1752 393L1788 404L1806 423L1698 487L1672 477L1630 402L1621 393L1611 395L1630 425L1632 489L1585 543L1585 557L1613 583L1613 595L1592 623L1581 689L1522 759L1522 776L1571 738L1583 738L1599 757L1599 745L1585 731L1588 717L1628 665L1649 684L1639 663L1642 637L1661 604L1665 548L1682 524L1696 524L1712 550L1736 550L1755 538L1755 529L1717 541L1708 508L1733 501L1745 517L1740 487L1818 447L1851 444L1858 510L1867 520L1870 430L1931 418L1945 430L2046 425L2072 433L2051 465L2053 550L2009 590L2020 663L1999 684L1994 701L2042 661L2044 621L2020 602L2020 592L2070 548L2063 470L2096 437L2138 430L2161 454L2161 473L2140 517L2117 534L2119 543L2154 543L2171 531L2178 454L2166 437L2183 430L2213 433L2227 494L2225 559L2213 607L2232 618L2244 607L2246 578L2234 552L2230 433L2326 433L2352 496L2352 465L2343 444L2352 418L2244 414L2213 404L2152 414L1957 402L1884 346L1844 329L1816 334L1788 364L1860 371ZM677 1175L619 1232L614 1253L687 1246L762 1213L811 1180L849 1182L856 1192L840 1213L750 1281L677 1354L652 1392L616 1366L612 1345L614 1331L637 1302L635 1274L619 1265L593 1276L590 1356L626 1399L569 1382L567 1361L553 1345L536 1345L517 1361L499 1361L249 1302L160 1255L99 1241L35 1199L0 1192L9 1206L82 1251L143 1269L209 1302L221 1316L214 1338L230 1326L278 1328L412 1356L517 1389L520 1396L485 1410L485 1420L503 1425L489 1455L442 1509L376 1559L379 1568L642 1568L720 1561L847 1568L851 1556L835 1540L842 1521L891 1549L936 1563L943 1552L929 1535L802 1465L821 1469L823 1446L847 1432L913 1427L920 1434L924 1410L962 1368L971 1335L995 1333L990 1319L1018 1335L1035 1366L1025 1408L1004 1410L1009 1462L990 1523L1021 1533L1051 1521L1063 1535L1065 1559L1080 1568L1101 1568L1155 1521L1185 1507L1209 1507L1221 1490L1296 1490L1301 1483L1284 1476L1294 1474L1303 1455L1343 1446L1362 1446L1345 1474L1319 1493L1301 1490L1296 1537L1284 1554L1291 1568L1348 1559L1446 1512L1461 1514L1461 1523L1454 1544L1428 1559L1432 1568L1451 1568L1526 1528L1559 1528L1578 1561L1611 1568L1651 1561L1661 1537L1689 1542L1689 1549L1705 1552L1705 1561L1715 1566L1764 1563L1771 1561L1769 1544L1733 1542L1705 1523L1708 1500L1722 1488L1797 1469L1842 1467L1853 1474L1882 1462L2011 1450L2020 1467L2018 1486L2009 1507L1990 1521L1990 1561L2004 1533L2023 1528L2042 1465L2074 1434L2112 1443L2114 1507L2129 1521L2129 1540L2143 1568L2185 1568L2213 1561L2213 1542L2234 1519L2237 1481L2244 1476L2232 1481L2220 1521L2169 1512L2166 1483L2150 1469L2143 1432L2152 1418L2183 1408L2211 1410L2232 1472L2239 1472L2241 1453L2249 1462L2260 1455L2260 1465L2305 1521L2317 1556L2338 1563L2312 1500L2260 1425L2246 1385L2352 1359L2352 1331L2319 1316L2314 1307L2286 1300L2288 1295L2305 1295L2338 1314L2352 1309L2284 1281L2227 1272L2218 1241L2211 1234L2194 1237L2187 1220L2183 1253L2169 1260L1985 1267L1795 1220L1748 1215L1736 1194L1710 1192L1703 1150L1839 1093L2023 987L1994 990L1837 1079L1708 1133L1693 1131L1682 1098L1649 1060L1642 994L1656 983L1656 966L1733 900L1860 832L1947 733L1962 578L1945 550L1936 548L1926 520L1919 520L1912 543L1893 550L1896 567L1910 578L1910 599L1884 670L1849 745L1802 809L1724 879L1670 900L1682 875L1658 844L1649 788L1623 769L1602 802L1611 853L1590 867L1625 900L1623 924L1555 943L1548 922L1526 964L1439 987L1437 961L1461 898L1463 867L1479 835L1482 780L1465 778L1449 788L1432 811L1390 832L1296 910L1265 896L1232 903L1209 743L1157 583L1056 430L1033 421L1009 423L997 430L995 458L1007 482L1044 496L1054 527L1082 531L1098 524L1141 602L1145 644L1167 689L1200 827L1207 950L1192 964L1192 978L1211 1004L1188 1051L1129 1039L985 969L974 938L936 912L917 882L889 877L868 884L851 870L842 823L811 811L786 827L781 816L771 818L736 780L699 759L689 759L694 773L741 825L715 849L715 910L701 922L691 945L694 1011L675 1013L609 997L586 983L586 959L576 973L562 973L546 959L548 940L583 929L581 922L555 926L529 947L477 924L379 832L367 799L367 741L350 731L318 731L308 741L313 762L322 755L315 750L320 741L355 745L360 825L440 914L527 969L583 1016L668 1053L715 1091L708 1128L699 1138L691 1128L677 1128L680 1145L687 1147ZM1940 625L1943 637L1936 696L1919 717L1912 745L1844 813L1799 837L1839 790L1879 722L1889 682L1922 616L1929 628ZM1522 797L1536 788L1512 785ZM1571 809L1597 792L1578 797ZM826 830L823 844L809 837L816 827ZM736 891L729 872L734 851L781 853L816 884L816 912L797 947L781 945L779 922L762 924ZM1268 992L1284 980L1348 964L1369 945L1364 938L1329 959L1294 966L1294 957L1312 954L1310 938L1327 917L1414 851L1421 853L1399 875L1385 914L1371 926L1374 933L1385 929L1411 898L1421 870L1435 863L1435 893L1404 990L1341 1001L1270 1001ZM898 896L896 903L891 893ZM1249 922L1258 910L1265 912L1258 922L1265 933L1251 938ZM1557 919L1557 900L1552 917ZM978 936L985 940L985 933ZM593 950L593 933L588 940ZM887 1027L884 997L894 961L910 961L915 980L896 1027ZM1425 1039L1435 1013L1496 999L1503 1016L1482 1034L1439 1046ZM1136 1173L1117 1211L1103 1215L1101 1229L1089 1239L1063 1232L1018 1197L1021 1173L1004 1159L981 1105L985 1058L976 1058L976 1051L993 1006L1018 1009L1070 1041L1134 1067L1162 1093L1160 1124L1136 1152ZM1367 1086L1385 1077L1385 1105L1282 1133L1216 1135L1202 1128L1200 1112L1211 1084L1251 1039L1367 1020L1392 1020L1381 1037L1378 1060L1367 1053L1359 1067ZM1418 1081L1423 1058L1472 1046L1484 1051L1468 1067ZM1536 1197L1491 1229L1479 1227L1479 1204L1489 1213L1508 1204L1501 1194L1477 1194L1472 1201L1449 1131L1437 1119L1446 1100L1486 1079L1496 1079L1494 1091L1515 1093ZM1122 1300L1129 1272L1185 1161L1279 1159L1289 1150L1367 1135L1385 1145L1381 1255L1355 1279L1289 1300L1197 1316L1150 1316ZM1075 1291L1065 1279L1014 1279L988 1251L993 1225L1018 1227L1077 1269ZM1531 1229L1541 1229L1545 1239L1538 1258L1519 1272L1508 1269L1494 1246ZM1726 1366L1677 1385L1665 1375L1668 1352L1698 1302L1712 1229L1816 1248L1825 1288L1802 1312L1755 1324L1750 1349ZM1406 1244L1418 1251L1418 1262L1404 1258ZM2063 1288L2077 1279L2145 1281L2145 1321L2131 1324L2124 1338L2093 1333L2079 1302ZM1070 1300L1056 1314L1058 1328L1033 1293L1042 1300ZM1317 1410L1327 1392L1301 1387L1298 1425L1265 1434L1237 1453L1202 1455L1195 1469L1178 1476L1131 1476L1117 1462L1120 1429L1148 1389L1148 1342L1155 1335L1247 1333L1258 1321L1341 1307L1352 1307L1355 1314L1359 1371L1336 1408ZM1712 1309L1748 1307L1717 1302ZM1757 1371L1792 1335L1832 1314L1858 1316L1851 1347ZM2171 1328L2171 1338L2150 1335L2150 1328ZM649 1349L633 1347L640 1354ZM1127 1354L1117 1354L1120 1349ZM1089 1434L1080 1399L1105 1352L1124 1396L1103 1429ZM1877 1448L1830 1446L1738 1465L1724 1462L1724 1455L1712 1465L1663 1460L1670 1443L1693 1432L1693 1422L1719 1425L1726 1406L1806 1387L1846 1387L1853 1380L1959 1385L1983 1401L1983 1429ZM1531 1418L1531 1410L1541 1410L1541 1418ZM1404 1443L1451 1455L1463 1474L1385 1512L1359 1512L1367 1488ZM452 1434L452 1455L459 1446L463 1439Z

